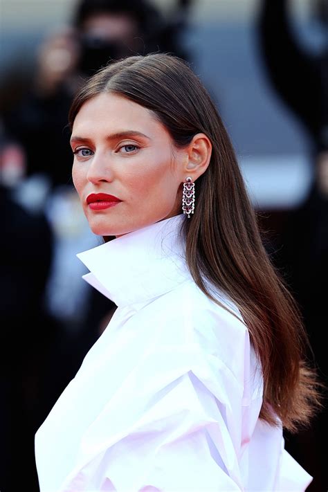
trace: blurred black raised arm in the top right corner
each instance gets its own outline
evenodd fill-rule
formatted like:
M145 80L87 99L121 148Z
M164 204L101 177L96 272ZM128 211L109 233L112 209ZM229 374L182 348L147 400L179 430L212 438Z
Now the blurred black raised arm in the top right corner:
M288 0L262 0L256 29L259 53L273 87L313 132L321 102L318 57L305 50L293 32Z

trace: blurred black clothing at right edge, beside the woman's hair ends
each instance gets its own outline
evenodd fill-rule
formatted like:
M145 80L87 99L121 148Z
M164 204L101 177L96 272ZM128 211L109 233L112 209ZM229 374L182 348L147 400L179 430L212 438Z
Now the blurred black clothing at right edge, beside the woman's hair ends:
M289 212L281 235L277 265L284 269L286 280L300 306L320 381L328 388L328 199L315 188L299 208ZM313 475L308 492L327 489L328 391L323 392L324 409L311 428L298 435L286 432L286 449Z

